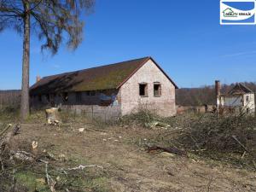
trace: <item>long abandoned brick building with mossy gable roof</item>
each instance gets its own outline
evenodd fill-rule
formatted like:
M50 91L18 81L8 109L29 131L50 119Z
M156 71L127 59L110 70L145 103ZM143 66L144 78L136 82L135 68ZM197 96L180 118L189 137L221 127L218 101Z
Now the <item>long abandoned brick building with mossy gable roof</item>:
M151 58L37 79L30 89L32 108L58 107L105 119L154 110L161 116L176 113L177 85Z

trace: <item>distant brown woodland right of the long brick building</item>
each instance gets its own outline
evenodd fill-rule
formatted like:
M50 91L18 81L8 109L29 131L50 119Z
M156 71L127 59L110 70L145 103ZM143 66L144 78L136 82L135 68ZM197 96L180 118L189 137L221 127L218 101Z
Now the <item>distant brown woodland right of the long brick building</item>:
M249 89L256 92L256 82L242 82ZM222 84L221 93L228 93L236 84ZM215 105L215 86L201 88L182 88L176 91L176 103L181 106Z

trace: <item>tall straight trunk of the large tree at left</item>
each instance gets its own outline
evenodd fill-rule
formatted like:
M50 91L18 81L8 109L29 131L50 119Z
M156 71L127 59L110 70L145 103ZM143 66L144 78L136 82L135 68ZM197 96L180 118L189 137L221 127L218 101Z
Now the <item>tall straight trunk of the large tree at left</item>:
M25 1L24 1L25 2ZM30 14L29 3L24 3L24 37L23 37L23 58L22 58L22 85L21 85L21 121L29 115L29 59L30 59Z

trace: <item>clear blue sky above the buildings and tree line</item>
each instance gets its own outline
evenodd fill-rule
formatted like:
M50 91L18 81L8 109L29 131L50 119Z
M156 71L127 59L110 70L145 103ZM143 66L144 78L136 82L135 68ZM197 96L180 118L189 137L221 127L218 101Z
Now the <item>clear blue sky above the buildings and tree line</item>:
M256 26L220 26L219 1L96 0L74 52L41 54L32 36L31 77L151 55L179 87L256 81ZM0 33L0 89L20 89L22 38Z

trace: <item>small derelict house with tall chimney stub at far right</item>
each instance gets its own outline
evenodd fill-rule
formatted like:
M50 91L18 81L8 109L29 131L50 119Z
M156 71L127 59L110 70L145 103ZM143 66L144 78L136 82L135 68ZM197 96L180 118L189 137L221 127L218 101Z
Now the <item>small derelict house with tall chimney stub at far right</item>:
M243 113L255 112L255 98L253 90L244 84L236 84L227 94L220 94L220 83L216 82L217 106L234 109Z

